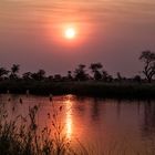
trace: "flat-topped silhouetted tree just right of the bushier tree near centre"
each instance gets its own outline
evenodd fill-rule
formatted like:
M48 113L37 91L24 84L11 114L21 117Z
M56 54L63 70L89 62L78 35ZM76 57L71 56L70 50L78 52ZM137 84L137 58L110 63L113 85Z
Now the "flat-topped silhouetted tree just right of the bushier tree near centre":
M94 74L94 80L101 80L102 79L102 73L101 73L101 69L102 69L102 64L101 63L92 63L90 65L90 69L92 70L93 74Z

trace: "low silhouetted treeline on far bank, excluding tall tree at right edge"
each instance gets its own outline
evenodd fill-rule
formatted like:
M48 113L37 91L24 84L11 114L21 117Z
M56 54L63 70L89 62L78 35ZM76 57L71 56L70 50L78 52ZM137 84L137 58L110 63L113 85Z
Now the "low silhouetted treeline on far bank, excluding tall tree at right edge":
M10 70L0 68L0 81L53 81L53 82L69 82L69 81L101 81L101 82L141 82L141 76L123 78L117 72L116 78L113 78L103 69L101 63L91 63L89 68L85 64L79 64L74 71L68 71L66 75L61 74L46 75L45 71L40 69L37 72L25 72L19 75L20 65L13 64Z

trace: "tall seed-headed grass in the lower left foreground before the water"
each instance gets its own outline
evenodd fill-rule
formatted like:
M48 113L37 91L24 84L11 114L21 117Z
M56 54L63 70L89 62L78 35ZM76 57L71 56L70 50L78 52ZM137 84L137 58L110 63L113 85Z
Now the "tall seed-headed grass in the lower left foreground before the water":
M27 117L8 117L3 105L0 107L0 155L64 155L74 154L70 142L62 133L58 113L52 115L52 126L40 128L37 124L39 106L29 108ZM50 115L50 114L49 114Z

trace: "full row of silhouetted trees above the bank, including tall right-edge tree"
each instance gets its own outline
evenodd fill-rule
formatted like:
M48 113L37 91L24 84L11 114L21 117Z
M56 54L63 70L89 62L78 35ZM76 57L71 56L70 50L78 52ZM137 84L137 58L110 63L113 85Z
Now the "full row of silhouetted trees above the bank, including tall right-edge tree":
M151 83L155 76L155 53L152 51L143 51L140 55L140 60L143 62L144 68L142 70L142 74L145 76L143 81L147 81ZM122 76L120 72L116 73L116 78L113 78L107 73L105 69L103 69L102 63L91 63L90 66L86 68L85 64L79 64L79 66L74 71L68 71L65 76L61 74L55 75L45 75L45 71L40 69L38 72L31 73L25 72L22 76L19 75L20 65L13 64L10 70L6 68L0 68L0 81L3 80L24 80L24 81L103 81L103 82L142 82L141 75L135 75L131 79Z

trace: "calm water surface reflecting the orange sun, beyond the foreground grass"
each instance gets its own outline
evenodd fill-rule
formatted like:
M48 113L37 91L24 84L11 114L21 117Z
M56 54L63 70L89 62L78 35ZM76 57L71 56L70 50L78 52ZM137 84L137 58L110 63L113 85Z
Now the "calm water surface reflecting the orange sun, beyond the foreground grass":
M9 101L10 99L10 101ZM20 104L22 99L22 104ZM54 96L0 95L11 117L28 115L29 107L39 105L37 121L40 126L52 126L48 113L62 106L59 112L64 133L72 142L80 141L97 152L125 149L146 154L155 149L155 101L118 101ZM14 107L14 111L12 110ZM113 153L114 154L114 153Z

